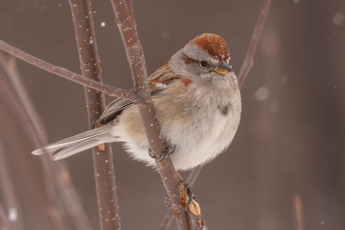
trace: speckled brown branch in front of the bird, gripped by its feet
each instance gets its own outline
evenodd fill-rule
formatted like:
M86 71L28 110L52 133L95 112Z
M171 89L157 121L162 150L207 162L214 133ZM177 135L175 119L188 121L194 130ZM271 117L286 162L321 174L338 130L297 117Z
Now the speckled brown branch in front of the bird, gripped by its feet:
M180 191L178 190L179 179L176 176L175 168L171 158L161 158L164 144L159 139L159 132L156 128L155 108L152 103L148 83L147 70L145 65L144 52L140 46L138 31L135 24L132 3L130 0L111 0L114 8L116 22L121 33L122 41L126 49L127 59L133 78L134 87L143 100L137 103L141 121L145 129L147 139L153 155L156 157L156 164L163 181L164 187L170 198L170 202L176 214L176 221L179 230L187 230L188 214L180 205Z

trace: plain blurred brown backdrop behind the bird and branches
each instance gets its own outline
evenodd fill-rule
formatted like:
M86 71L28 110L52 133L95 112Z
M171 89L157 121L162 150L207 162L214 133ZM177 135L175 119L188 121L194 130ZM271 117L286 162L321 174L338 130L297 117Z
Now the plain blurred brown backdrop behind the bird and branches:
M0 6L0 39L81 72L67 0L0 0ZM230 63L238 73L261 1L133 0L133 7L149 74L204 32L227 41ZM103 81L131 88L111 3L92 1L92 10ZM345 229L344 19L343 0L272 2L255 66L242 88L243 112L235 139L204 167L193 186L207 229L294 229L294 194L302 197L305 229ZM88 129L82 86L22 61L18 66L49 142ZM107 103L111 100L107 97ZM9 133L22 131L6 125L13 118L3 102L0 105L1 135L15 138ZM22 154L33 149L28 142ZM159 175L131 160L120 143L113 149L122 229L156 229L167 209ZM24 150L7 149L15 167L20 159L11 157L13 151ZM37 157L30 159L27 167L35 167ZM67 161L83 206L99 229L91 151ZM27 178L39 174L37 169ZM13 178L19 187L25 181L30 186L14 172ZM24 214L39 217L39 210L25 206L28 197L21 191ZM29 217L25 221L26 229L39 229Z

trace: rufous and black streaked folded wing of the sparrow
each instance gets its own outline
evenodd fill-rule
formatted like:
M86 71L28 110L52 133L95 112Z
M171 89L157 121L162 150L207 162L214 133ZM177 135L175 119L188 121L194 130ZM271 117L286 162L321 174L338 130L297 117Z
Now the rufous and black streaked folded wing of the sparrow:
M152 75L148 79L150 82L151 95L164 90L172 80L177 78L178 77L171 72L169 64L162 66L161 68L156 70L156 72L152 73ZM116 98L106 107L101 117L99 118L98 123L109 123L110 121L114 120L126 107L131 106L132 104L134 104L134 102L131 100Z

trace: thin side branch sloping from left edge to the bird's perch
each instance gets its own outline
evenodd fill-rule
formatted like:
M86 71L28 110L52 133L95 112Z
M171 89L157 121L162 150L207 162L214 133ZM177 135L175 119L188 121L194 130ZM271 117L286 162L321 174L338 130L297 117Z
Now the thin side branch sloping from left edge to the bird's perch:
M36 58L16 47L11 46L10 44L0 40L0 49L17 57L25 62L32 64L38 68L46 70L50 73L56 74L60 77L66 78L68 80L82 84L83 86L90 87L92 89L99 90L101 92L107 93L110 96L126 98L132 101L137 101L137 94L132 90L118 89L116 87L103 84L92 79L84 78L77 73L73 73L65 68L54 66L46 61L43 61L39 58Z

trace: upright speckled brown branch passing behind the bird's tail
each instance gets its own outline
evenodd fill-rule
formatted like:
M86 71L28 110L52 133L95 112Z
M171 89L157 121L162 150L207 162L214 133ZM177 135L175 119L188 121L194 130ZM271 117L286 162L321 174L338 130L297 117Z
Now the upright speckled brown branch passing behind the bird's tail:
M82 76L102 84L90 0L69 0L69 3L76 32ZM129 96L132 95L128 94ZM105 109L104 93L85 87L85 97L91 126L99 119ZM92 157L101 229L120 229L119 206L110 143L106 144L104 151L92 148Z

